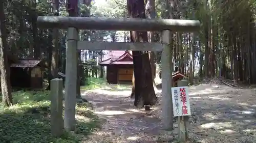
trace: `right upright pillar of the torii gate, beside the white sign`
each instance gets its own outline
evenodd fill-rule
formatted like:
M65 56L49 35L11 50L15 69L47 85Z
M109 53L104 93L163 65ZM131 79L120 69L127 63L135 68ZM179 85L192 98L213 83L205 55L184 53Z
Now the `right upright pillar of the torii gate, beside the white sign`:
M170 48L169 30L162 32L162 122L164 129L173 130L173 101L172 101L172 49Z

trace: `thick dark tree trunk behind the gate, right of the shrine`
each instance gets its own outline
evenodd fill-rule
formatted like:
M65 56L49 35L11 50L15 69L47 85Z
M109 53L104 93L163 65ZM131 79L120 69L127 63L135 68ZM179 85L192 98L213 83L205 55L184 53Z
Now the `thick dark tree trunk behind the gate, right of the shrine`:
M146 18L144 1L127 0L131 18ZM130 32L131 42L148 42L147 32ZM135 94L134 105L142 108L153 105L157 97L153 87L150 59L147 51L133 51ZM132 93L133 94L133 93Z

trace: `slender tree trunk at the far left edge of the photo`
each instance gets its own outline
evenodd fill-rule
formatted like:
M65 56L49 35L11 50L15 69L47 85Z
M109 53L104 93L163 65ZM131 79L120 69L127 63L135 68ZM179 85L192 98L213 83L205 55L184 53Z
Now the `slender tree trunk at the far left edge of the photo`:
M1 90L2 102L7 105L12 105L12 89L10 83L10 65L8 63L8 45L6 36L5 1L0 2L0 72L1 72Z

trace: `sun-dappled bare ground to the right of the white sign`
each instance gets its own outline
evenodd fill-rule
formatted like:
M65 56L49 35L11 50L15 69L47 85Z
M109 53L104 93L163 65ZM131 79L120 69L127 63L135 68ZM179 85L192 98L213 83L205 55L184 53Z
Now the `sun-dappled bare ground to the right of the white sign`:
M201 142L256 142L255 89L226 85L190 87L191 136Z

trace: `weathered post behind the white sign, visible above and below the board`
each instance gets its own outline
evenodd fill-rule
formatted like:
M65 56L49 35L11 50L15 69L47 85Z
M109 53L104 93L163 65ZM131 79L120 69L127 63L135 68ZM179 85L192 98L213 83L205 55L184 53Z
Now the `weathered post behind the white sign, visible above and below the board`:
M178 87L187 87L188 81L185 79L178 81ZM187 127L189 125L189 116L179 116L178 117L178 128L179 128L179 141L186 142L188 139L188 130Z

